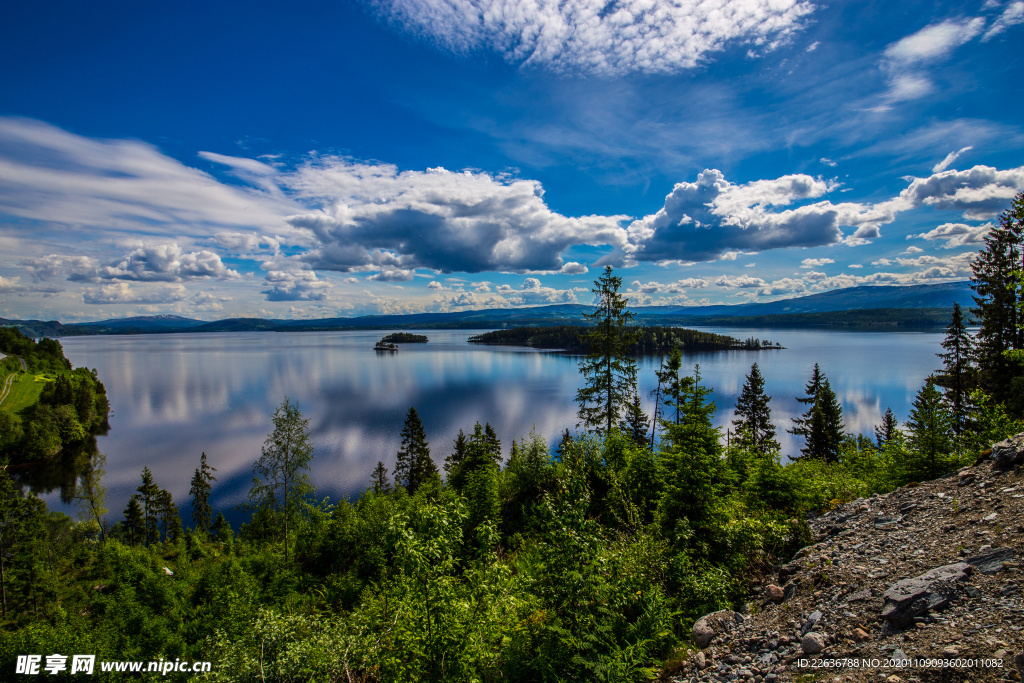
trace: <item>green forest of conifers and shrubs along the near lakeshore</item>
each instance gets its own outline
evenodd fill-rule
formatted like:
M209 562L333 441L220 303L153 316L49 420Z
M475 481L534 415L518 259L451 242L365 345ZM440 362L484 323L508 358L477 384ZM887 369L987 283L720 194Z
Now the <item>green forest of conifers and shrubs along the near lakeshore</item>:
M874 433L847 433L815 367L806 412L788 426L804 446L786 459L757 364L727 441L699 368L684 368L678 348L657 371L654 415L644 414L629 352L637 330L610 268L588 314L579 424L560 438L512 439L507 459L486 423L431 444L412 407L393 471L378 463L354 501L321 499L309 421L283 397L254 454L248 521L231 528L210 505L217 470L206 454L188 520L148 469L124 511L106 510L98 454L72 518L12 476L28 453L22 437L4 446L0 473L0 671L15 671L18 655L85 653L210 661L200 678L213 681L670 675L695 618L741 608L753 580L809 543L808 515L955 470L1024 431L1022 245L1024 195L974 262L980 327L954 307L905 419L890 411ZM70 371L58 345L3 339L22 344L5 353L48 358L44 373L69 377L70 394L57 398L56 381L43 389L43 414L78 405L75 378L87 373ZM123 674L97 665L94 676Z

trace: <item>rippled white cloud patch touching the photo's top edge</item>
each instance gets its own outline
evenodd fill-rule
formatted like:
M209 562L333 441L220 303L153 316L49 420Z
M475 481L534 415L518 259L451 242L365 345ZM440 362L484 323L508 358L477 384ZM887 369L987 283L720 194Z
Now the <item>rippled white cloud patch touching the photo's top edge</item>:
M371 0L390 23L443 49L495 50L507 61L597 74L671 73L730 44L769 50L799 31L814 5L801 0L652 3L617 0Z

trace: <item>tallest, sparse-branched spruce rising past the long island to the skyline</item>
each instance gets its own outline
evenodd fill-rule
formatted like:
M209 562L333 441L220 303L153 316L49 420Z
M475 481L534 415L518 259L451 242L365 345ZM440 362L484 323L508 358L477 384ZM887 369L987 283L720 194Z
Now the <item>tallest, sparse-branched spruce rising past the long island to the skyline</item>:
M608 433L618 423L629 397L636 393L637 364L629 357L636 333L628 327L633 313L618 294L623 279L611 274L611 266L595 282L597 309L584 316L593 323L586 335L589 352L580 361L585 385L577 391L580 424L592 431Z

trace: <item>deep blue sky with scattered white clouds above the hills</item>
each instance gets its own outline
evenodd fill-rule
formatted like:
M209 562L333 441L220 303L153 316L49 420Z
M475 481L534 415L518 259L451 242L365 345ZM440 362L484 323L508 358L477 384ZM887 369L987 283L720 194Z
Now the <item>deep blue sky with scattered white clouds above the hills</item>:
M15 3L0 316L742 303L965 280L1024 2Z

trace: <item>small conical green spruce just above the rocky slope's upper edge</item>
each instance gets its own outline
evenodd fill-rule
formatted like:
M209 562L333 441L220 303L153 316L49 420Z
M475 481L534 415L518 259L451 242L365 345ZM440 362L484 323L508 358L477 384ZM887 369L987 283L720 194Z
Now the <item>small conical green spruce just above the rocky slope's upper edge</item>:
M952 419L942 394L935 388L935 378L929 377L918 392L906 428L909 477L920 481L942 474L952 452Z

